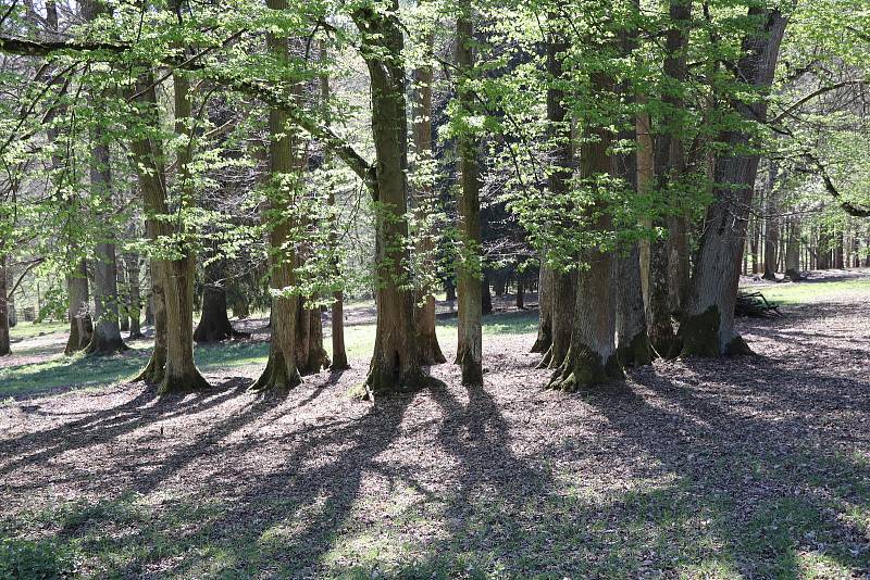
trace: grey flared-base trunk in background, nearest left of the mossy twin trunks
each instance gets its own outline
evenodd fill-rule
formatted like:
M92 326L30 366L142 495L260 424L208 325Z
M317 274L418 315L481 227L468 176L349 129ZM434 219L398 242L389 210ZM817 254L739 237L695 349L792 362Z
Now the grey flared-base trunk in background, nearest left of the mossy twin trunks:
M91 150L90 187L94 193L100 197L111 207L112 200L112 173L110 171L109 147L103 143L104 136L101 128L92 131L94 148ZM103 240L97 243L94 261L94 333L85 352L87 354L108 355L127 350L124 339L121 338L119 319L117 294L117 257L112 227L107 219L103 220Z

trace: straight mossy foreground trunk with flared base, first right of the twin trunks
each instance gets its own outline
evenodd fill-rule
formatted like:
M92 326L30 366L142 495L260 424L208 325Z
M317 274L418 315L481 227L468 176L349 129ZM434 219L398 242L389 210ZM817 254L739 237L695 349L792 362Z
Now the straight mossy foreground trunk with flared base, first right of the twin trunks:
M269 0L272 10L286 10L287 0ZM287 58L287 38L270 34L266 37L269 51L277 59ZM295 96L299 87L294 87ZM260 378L252 389L285 392L302 379L297 367L296 325L300 310L299 297L294 291L296 286L296 252L293 231L295 229L295 212L293 199L300 187L302 172L299 143L291 135L288 125L289 115L282 109L269 111L269 168L272 178L269 188L269 262L271 269L270 286L272 288L272 341L269 349L269 361ZM288 209L290 209L288 211Z

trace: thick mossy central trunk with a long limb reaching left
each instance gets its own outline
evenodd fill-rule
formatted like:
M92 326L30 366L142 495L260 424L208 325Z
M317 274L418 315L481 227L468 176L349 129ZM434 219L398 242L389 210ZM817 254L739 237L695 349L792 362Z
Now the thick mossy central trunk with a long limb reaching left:
M408 105L399 2L382 11L365 4L353 12L362 56L371 77L372 136L376 164L371 178L376 204L375 270L377 326L365 387L375 393L418 388L423 380L417 348L413 291L408 289ZM378 4L381 7L382 4Z

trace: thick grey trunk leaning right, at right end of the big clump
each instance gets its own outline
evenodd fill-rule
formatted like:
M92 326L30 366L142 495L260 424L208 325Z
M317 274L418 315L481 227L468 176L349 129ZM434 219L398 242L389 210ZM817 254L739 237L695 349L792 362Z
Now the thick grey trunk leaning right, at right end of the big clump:
M778 10L755 7L749 9L749 15L761 24L744 39L735 74L767 90L773 80L786 18ZM767 118L765 99L738 101L736 108L747 121ZM724 141L730 149L716 163L714 201L707 212L692 293L680 325L684 355L751 352L734 329L734 304L759 155L745 152L751 146L747 133L728 131Z

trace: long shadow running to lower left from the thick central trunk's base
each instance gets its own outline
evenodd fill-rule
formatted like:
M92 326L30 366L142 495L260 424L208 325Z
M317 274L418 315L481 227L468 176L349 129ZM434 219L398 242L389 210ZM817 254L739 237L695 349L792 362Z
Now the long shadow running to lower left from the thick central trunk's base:
M270 472L248 475L241 495L209 525L211 532L203 541L216 542L233 553L235 571L241 576L284 566L293 570L293 577L320 577L315 570L353 506L365 500L364 479L382 471L377 456L399 437L412 398L402 394L381 400L362 417L289 434L296 449ZM257 444L251 441L247 446ZM341 451L335 452L335 447ZM244 450L238 449L240 453ZM226 466L213 474L211 481L220 484L238 478L236 469ZM265 560L250 560L252 553ZM192 573L196 564L185 559L172 572Z

